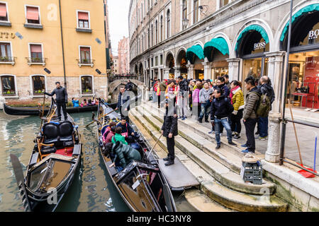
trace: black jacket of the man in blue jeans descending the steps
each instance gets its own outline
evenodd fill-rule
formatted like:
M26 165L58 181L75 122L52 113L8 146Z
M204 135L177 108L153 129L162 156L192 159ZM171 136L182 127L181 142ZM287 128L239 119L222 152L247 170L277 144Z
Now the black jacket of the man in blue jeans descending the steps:
M211 102L211 120L214 120L215 116L219 119L229 117L233 111L234 107L227 97L220 96Z

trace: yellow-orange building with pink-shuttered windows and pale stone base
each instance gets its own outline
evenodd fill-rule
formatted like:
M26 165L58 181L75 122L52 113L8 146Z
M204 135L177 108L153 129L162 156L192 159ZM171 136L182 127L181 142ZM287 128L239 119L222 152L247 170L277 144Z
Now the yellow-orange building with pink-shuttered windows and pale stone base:
M2 100L43 96L55 82L71 97L106 97L103 1L0 1Z

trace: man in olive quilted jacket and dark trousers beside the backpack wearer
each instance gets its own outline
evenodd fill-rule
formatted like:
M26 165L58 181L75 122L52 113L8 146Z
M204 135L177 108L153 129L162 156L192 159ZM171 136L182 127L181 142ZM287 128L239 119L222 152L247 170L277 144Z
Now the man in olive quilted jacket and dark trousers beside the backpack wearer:
M247 142L242 145L242 147L247 149L242 150L242 153L254 153L254 127L256 126L258 120L257 109L261 93L260 90L255 86L254 77L252 76L245 79L245 88L247 91L249 91L246 95L246 104L243 116Z

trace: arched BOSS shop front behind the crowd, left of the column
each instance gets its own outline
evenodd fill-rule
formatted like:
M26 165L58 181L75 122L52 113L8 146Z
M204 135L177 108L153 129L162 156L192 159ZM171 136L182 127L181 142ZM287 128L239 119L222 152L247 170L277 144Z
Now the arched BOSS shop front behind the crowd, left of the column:
M256 83L262 76L268 76L269 38L267 32L259 25L250 25L240 33L235 47L237 57L242 59L240 81L252 76ZM247 91L244 89L244 94Z

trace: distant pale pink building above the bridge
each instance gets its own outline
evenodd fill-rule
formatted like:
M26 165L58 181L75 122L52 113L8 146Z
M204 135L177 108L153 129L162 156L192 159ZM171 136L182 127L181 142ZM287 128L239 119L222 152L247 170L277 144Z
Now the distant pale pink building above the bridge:
M128 37L123 37L123 39L118 42L118 64L120 75L130 73L130 45Z

